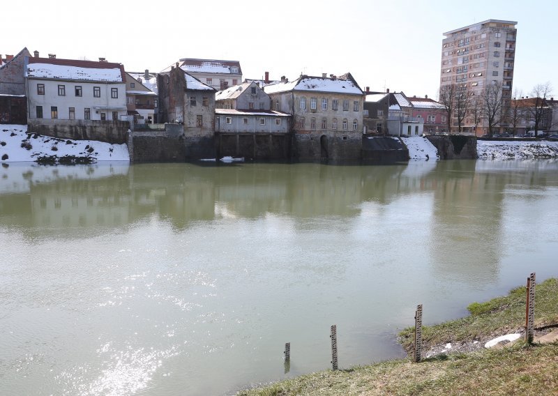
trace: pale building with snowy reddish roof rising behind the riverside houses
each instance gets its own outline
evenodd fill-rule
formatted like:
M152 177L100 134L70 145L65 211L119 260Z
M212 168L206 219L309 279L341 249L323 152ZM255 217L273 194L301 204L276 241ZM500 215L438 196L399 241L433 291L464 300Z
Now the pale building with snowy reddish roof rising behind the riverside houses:
M242 82L242 70L239 61L183 58L180 59L179 67L217 91ZM169 71L169 69L164 71Z

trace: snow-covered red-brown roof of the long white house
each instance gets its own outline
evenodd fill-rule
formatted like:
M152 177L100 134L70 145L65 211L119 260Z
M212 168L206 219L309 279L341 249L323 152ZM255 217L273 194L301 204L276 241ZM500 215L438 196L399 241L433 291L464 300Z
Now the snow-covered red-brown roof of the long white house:
M80 81L126 82L120 63L79 61L75 59L30 57L26 77L75 79Z

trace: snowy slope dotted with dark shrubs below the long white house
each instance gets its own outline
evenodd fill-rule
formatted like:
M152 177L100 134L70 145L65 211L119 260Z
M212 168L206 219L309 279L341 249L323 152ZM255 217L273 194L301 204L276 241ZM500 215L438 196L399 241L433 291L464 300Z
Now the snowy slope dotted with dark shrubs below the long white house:
M130 161L126 144L28 135L27 125L0 125L0 162L36 161L43 155L89 157L93 162Z

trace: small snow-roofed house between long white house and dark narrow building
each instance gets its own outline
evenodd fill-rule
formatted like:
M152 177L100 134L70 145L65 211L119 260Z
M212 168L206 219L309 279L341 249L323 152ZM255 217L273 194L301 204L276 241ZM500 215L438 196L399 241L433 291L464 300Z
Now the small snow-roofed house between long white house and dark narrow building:
M143 78L136 76L137 73L126 73L126 108L130 122L133 125L156 123L158 96L143 84L143 81L149 84L149 80L156 77L151 77L149 70L145 70Z

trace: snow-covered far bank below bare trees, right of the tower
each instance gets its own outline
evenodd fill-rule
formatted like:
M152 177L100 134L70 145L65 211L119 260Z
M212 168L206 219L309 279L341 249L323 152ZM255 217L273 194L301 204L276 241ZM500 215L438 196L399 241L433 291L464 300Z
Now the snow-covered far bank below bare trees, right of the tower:
M529 159L529 158L557 158L558 142L496 142L493 140L478 140L476 153L481 159Z

